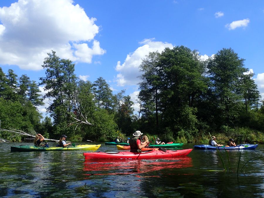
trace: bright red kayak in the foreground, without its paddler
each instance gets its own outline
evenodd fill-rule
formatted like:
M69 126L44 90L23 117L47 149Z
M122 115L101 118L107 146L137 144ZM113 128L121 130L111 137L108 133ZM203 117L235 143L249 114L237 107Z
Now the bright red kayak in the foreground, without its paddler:
M128 151L107 152L107 153L83 153L86 160L88 159L151 159L151 158L174 158L177 156L188 155L191 149L184 150L145 150L141 153L132 153Z

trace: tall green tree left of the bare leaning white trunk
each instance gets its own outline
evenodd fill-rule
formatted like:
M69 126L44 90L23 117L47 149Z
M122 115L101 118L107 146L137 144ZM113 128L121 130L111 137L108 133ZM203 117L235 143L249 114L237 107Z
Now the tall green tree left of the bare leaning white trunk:
M55 127L57 130L55 133L61 133L71 122L71 93L74 92L77 80L74 74L75 65L70 60L60 59L56 52L52 51L44 59L42 67L46 69L46 77L40 78L40 85L45 85L44 90L47 91L43 98L53 99L47 110L53 117L55 125L58 125Z

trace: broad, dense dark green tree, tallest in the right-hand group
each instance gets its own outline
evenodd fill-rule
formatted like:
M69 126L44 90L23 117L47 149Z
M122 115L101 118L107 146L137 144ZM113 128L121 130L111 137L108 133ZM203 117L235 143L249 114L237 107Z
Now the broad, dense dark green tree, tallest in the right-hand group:
M163 128L170 127L170 131L176 134L184 130L195 135L196 106L202 93L208 88L204 66L198 53L184 46L166 48L161 53L160 60L164 71L164 85L160 91ZM181 119L182 117L189 119Z

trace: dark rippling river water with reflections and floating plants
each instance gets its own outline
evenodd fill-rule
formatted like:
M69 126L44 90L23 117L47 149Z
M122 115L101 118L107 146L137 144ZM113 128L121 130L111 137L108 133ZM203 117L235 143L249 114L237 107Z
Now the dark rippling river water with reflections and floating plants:
M219 151L223 171L216 150L195 149L174 159L98 161L84 160L84 151L10 152L11 145L22 143L0 143L0 197L264 197L264 145L242 150L238 173L238 150ZM101 143L98 151L117 148Z

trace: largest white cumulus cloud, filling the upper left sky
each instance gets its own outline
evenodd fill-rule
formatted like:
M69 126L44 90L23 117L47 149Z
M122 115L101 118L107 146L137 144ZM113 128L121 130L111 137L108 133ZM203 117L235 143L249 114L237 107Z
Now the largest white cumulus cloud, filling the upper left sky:
M102 55L96 18L72 0L18 0L0 7L0 64L40 70L51 50L60 58L91 63Z

